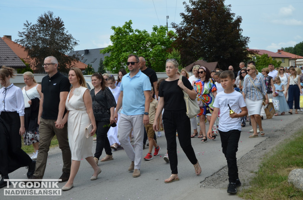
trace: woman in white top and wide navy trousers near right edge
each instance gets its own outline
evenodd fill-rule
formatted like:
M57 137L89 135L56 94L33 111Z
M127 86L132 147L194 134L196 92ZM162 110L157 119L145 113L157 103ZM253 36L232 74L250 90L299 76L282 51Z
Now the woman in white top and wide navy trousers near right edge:
M300 93L302 93L300 79L295 68L289 68L289 72L291 75L288 77L288 84L286 88L288 93L287 103L290 109L288 113L292 114L293 103L295 101L295 114L298 114L298 109L300 109Z

